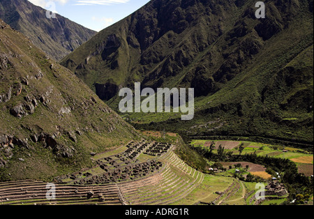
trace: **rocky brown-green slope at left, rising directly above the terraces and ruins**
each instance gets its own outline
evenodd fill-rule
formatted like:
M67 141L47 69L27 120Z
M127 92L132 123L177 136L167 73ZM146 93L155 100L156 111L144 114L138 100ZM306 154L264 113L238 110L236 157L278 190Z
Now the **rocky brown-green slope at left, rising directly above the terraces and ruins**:
M0 20L0 181L90 167L91 155L137 139L70 70Z

